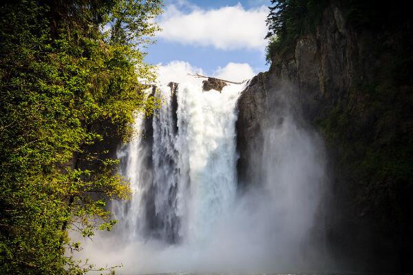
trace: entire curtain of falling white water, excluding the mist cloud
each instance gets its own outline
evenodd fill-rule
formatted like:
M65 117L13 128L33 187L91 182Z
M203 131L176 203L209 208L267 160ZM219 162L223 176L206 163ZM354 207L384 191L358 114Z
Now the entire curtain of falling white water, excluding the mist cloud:
M202 91L200 83L158 87L162 104L153 118L136 120L138 135L119 153L133 197L114 203L112 212L127 240L207 241L235 199L235 102L242 86L222 93Z

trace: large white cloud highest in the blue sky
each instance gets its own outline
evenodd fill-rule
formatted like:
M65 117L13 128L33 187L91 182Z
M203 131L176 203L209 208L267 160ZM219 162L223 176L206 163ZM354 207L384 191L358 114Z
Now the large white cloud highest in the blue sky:
M176 5L168 5L158 21L162 28L158 37L221 50L264 50L267 14L268 9L264 5L250 10L245 10L240 4L215 10L191 6L191 12L186 14L178 10Z

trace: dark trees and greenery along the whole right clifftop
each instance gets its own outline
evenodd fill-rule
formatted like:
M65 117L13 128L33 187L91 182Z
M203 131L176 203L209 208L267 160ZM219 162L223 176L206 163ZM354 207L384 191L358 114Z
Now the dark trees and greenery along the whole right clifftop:
M405 4L381 3L374 0L334 1L344 12L346 21L352 28L369 30L397 30L410 24ZM282 56L295 50L295 42L300 36L315 33L321 23L324 10L332 0L271 0L266 19L268 27L268 63L275 55Z

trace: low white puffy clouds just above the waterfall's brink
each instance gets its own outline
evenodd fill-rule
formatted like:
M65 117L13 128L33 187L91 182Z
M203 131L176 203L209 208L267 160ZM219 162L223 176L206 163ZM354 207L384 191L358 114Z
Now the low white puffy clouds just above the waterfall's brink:
M167 65L158 65L158 81L160 83L193 83L200 82L200 78L189 76L188 74L205 75L204 70L194 67L184 61L171 61ZM242 82L255 76L255 72L247 63L228 63L225 67L218 67L210 75L224 80Z

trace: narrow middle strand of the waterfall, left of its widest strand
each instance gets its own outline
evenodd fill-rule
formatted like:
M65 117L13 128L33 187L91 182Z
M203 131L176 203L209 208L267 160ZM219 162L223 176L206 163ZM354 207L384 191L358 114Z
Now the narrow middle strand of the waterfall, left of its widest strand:
M170 88L170 89L169 89ZM178 184L180 181L178 168L178 151L176 150L176 93L178 87L171 83L169 87L160 87L160 109L153 115L153 223L151 230L158 228L158 237L175 243L180 230L178 213ZM175 109L175 110L173 110ZM175 112L173 112L175 111ZM131 152L132 153L132 152Z

